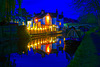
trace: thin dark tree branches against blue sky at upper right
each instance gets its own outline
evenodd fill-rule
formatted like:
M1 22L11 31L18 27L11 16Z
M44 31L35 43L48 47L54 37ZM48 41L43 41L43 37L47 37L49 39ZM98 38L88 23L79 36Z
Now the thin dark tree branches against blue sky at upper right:
M75 7L83 11L81 16L93 13L100 27L100 0L73 0L73 3Z

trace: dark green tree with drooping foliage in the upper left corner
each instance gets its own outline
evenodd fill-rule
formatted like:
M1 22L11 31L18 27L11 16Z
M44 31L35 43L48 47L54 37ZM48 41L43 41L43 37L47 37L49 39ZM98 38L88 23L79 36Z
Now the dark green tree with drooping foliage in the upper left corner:
M9 22L15 12L15 0L0 0L0 21Z

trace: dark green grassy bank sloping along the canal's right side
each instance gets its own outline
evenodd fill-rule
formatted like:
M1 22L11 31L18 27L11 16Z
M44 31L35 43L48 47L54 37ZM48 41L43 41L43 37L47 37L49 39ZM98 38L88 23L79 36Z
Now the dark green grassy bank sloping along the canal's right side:
M98 54L97 43L94 43L100 38L91 35L91 32L96 33L94 30L86 33L68 67L100 67L100 55ZM98 44L100 45L99 42Z

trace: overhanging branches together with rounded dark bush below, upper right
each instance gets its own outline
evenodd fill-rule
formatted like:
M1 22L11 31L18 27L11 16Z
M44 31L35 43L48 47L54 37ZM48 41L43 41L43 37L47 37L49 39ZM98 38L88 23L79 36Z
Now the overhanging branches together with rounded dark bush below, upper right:
M74 3L75 8L82 11L79 18L81 19L81 22L94 23L96 21L100 26L100 0L73 0L72 2Z

